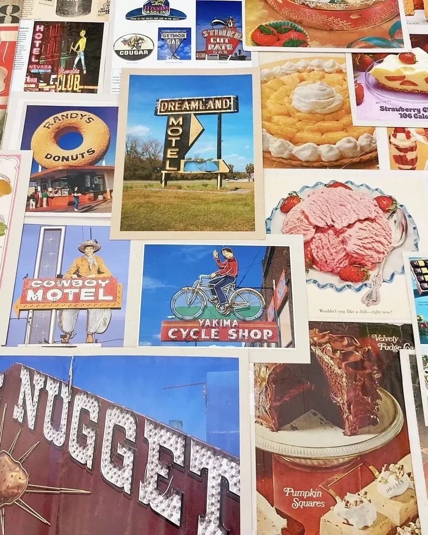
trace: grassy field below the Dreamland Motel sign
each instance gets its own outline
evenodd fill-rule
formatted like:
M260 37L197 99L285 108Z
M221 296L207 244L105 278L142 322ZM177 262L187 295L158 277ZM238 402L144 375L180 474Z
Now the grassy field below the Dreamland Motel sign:
M254 182L180 180L124 184L123 231L253 231ZM228 187L225 187L225 186Z

